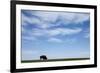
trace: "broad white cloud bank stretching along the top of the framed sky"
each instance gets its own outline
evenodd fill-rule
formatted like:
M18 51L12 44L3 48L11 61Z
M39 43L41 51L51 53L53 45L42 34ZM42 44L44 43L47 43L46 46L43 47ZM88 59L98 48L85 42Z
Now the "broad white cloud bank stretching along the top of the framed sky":
M48 28L51 26L58 26L60 23L78 24L89 19L88 13L75 13L75 12L50 12L50 11L28 11L32 17L22 14L22 24L26 25L26 21L37 25L41 28ZM37 17L34 17L37 16ZM59 20L58 22L56 22ZM51 23L52 22L52 23ZM53 24L53 22L56 22Z

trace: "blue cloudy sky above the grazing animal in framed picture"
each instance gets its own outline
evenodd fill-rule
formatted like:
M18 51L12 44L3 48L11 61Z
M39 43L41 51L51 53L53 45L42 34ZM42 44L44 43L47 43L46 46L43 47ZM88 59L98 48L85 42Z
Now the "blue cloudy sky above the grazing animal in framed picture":
M90 57L90 14L21 10L22 60Z

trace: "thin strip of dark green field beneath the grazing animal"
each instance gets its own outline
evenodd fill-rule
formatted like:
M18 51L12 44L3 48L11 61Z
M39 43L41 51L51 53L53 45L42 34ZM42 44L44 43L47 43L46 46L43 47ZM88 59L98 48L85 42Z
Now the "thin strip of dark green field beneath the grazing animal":
M53 62L53 61L77 61L77 60L89 60L90 58L67 58L67 59L48 59L48 60L22 60L21 63L33 63L33 62Z

